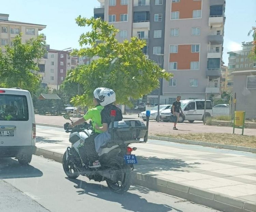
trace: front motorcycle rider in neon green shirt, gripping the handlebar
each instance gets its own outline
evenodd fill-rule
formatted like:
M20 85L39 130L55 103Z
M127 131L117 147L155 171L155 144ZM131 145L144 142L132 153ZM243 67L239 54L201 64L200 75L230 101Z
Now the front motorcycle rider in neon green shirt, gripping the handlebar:
M102 111L103 106L100 105L100 100L97 99L95 97L95 95L94 95L93 103L94 103L94 106L95 106L94 108L89 109L82 118L73 122L70 125L71 127L74 127L75 125L82 124L85 121L91 119L93 129L94 129L93 133L90 135L89 138L87 138L85 140L85 142L81 143L78 147L80 157L81 157L84 164L86 164L86 159L88 157L87 154L86 154L86 148L88 148L89 152L93 152L96 155L95 148L91 147L91 146L94 146L95 137L98 136L100 133L102 133L102 131L99 130L99 129L96 129L95 126L96 125L97 126L103 126L101 124L101 115L100 115L100 112ZM99 167L99 166L97 166L97 167Z

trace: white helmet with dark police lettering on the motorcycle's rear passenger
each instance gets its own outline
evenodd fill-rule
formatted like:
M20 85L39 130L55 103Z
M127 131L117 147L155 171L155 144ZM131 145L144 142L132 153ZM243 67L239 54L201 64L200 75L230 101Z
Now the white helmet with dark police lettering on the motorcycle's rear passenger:
M96 88L93 92L94 98L98 99L100 105L105 107L116 101L116 94L109 88Z

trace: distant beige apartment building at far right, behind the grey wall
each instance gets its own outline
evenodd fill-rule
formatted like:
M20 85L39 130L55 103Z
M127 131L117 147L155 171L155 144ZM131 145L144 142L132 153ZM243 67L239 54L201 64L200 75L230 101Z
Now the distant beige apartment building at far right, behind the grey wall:
M252 42L242 42L242 50L228 52L228 79L227 88L233 90L233 71L246 71L256 69L256 61L250 57L252 52Z

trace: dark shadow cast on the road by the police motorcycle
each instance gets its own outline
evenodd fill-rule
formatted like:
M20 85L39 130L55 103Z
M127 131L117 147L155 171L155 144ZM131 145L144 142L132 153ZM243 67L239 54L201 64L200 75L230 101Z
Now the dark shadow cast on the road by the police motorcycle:
M172 208L168 205L156 204L153 202L148 202L146 199L141 196L133 193L126 192L123 195L116 194L111 192L108 187L102 186L94 183L87 183L78 179L69 179L68 180L76 183L74 187L77 189L82 189L77 191L79 195L87 194L95 198L104 199L106 201L117 202L122 208L129 211L136 212L169 212L177 211L183 212L182 210ZM136 187L133 187L133 190L136 190Z

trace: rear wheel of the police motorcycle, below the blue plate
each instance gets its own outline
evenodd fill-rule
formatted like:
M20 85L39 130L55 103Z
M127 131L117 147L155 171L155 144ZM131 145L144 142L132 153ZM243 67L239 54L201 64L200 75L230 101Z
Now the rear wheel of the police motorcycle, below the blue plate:
M124 158L115 157L108 163L110 169L115 172L115 181L106 180L111 191L123 194L131 186L131 168L125 163Z

